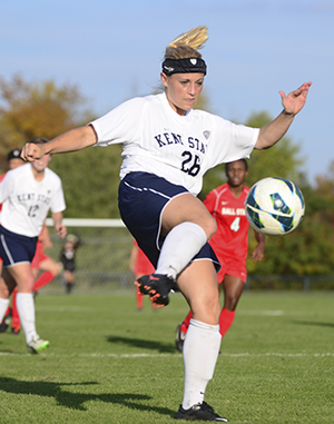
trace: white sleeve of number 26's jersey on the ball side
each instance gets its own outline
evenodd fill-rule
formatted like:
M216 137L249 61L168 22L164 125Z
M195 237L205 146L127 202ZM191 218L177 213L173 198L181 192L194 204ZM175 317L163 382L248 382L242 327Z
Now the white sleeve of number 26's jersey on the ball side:
M209 167L248 158L254 149L259 129L236 125L215 117L213 138L208 142Z

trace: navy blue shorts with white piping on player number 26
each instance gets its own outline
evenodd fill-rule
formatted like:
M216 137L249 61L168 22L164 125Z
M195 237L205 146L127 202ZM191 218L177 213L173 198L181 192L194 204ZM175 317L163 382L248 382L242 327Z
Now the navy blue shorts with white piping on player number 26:
M120 181L118 206L121 219L155 268L164 243L161 213L169 200L185 193L189 193L185 187L148 172L129 172ZM220 268L208 243L193 258L196 259L210 259L217 272Z

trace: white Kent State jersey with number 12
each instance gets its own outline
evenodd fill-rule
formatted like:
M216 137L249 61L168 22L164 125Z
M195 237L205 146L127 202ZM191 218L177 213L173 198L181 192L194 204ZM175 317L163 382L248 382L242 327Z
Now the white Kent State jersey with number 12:
M9 231L37 237L50 209L66 208L61 180L51 169L45 169L45 178L37 181L31 164L7 172L0 184L1 225Z

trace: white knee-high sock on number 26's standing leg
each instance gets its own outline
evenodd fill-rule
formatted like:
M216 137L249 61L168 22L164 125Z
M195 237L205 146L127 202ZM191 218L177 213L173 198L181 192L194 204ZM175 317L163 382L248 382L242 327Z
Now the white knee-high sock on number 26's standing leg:
M219 325L190 319L184 344L185 393L183 407L203 403L207 383L213 378L222 336Z

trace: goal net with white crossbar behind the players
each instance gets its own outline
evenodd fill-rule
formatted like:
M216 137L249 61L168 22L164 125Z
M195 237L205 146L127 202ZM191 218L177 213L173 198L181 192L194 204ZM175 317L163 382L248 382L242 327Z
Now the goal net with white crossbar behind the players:
M76 253L75 292L101 292L135 289L134 274L129 270L132 236L120 219L63 219L68 234L79 237ZM47 226L53 246L46 254L56 262L65 240L53 229L51 218ZM65 290L62 273L43 292Z

